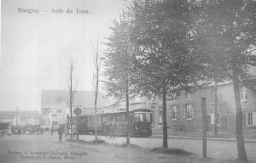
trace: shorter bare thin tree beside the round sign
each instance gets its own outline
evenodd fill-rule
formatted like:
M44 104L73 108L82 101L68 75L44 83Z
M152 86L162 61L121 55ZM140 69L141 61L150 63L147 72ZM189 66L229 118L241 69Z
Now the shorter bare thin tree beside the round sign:
M74 84L74 75L73 75L73 69L74 69L74 64L73 64L73 59L69 59L69 79L67 81L67 86L68 86L68 90L69 90L69 112L70 112L70 119L69 119L69 124L71 127L71 139L73 139L73 100L74 100L74 95L77 92L77 88L78 88L78 82L76 82Z

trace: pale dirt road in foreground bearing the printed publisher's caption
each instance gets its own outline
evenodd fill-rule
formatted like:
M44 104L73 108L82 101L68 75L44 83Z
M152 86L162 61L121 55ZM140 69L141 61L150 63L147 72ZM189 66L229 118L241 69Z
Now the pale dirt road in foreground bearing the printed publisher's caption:
M64 138L65 139L65 138ZM167 155L140 148L113 144L59 143L57 135L12 135L0 138L0 162L85 162L85 163L204 163L230 160L203 160L197 155Z

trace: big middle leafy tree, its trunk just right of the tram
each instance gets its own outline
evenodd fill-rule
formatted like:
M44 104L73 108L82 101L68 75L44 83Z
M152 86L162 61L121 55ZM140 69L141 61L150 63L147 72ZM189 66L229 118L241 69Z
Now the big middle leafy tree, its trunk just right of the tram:
M137 46L135 83L143 96L162 99L163 148L168 148L166 99L180 89L195 87L201 77L196 55L189 48L188 5L177 0L134 1L129 8L131 42Z

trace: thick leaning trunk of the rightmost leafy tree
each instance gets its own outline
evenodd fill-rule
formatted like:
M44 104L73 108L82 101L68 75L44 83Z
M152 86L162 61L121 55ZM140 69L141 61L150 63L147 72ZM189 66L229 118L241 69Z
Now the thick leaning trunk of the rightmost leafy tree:
M242 135L242 111L240 103L240 86L239 79L237 78L236 70L233 70L233 84L236 99L236 142L238 157L240 160L247 161L247 153L244 145L244 138Z

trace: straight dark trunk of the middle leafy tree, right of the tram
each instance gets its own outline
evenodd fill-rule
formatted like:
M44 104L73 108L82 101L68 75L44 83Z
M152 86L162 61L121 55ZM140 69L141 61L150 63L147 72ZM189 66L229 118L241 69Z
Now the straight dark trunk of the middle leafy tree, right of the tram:
M166 88L163 88L163 148L168 149L166 121Z

